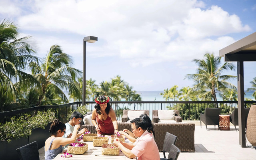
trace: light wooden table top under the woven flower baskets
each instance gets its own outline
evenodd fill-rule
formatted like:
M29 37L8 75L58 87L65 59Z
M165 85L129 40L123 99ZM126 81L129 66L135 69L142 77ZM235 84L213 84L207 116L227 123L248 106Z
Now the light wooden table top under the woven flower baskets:
M106 137L109 136L106 135ZM76 142L83 142L83 140ZM128 141L126 140L125 142ZM64 149L62 153L58 154L58 156L56 156L53 160L131 160L121 151L119 152L119 155L102 155L101 146L92 146L92 141L86 141L83 143L88 144L88 150L84 154L71 154L72 157L70 158L61 157L63 152L66 151L66 149ZM108 143L110 144L110 138Z

